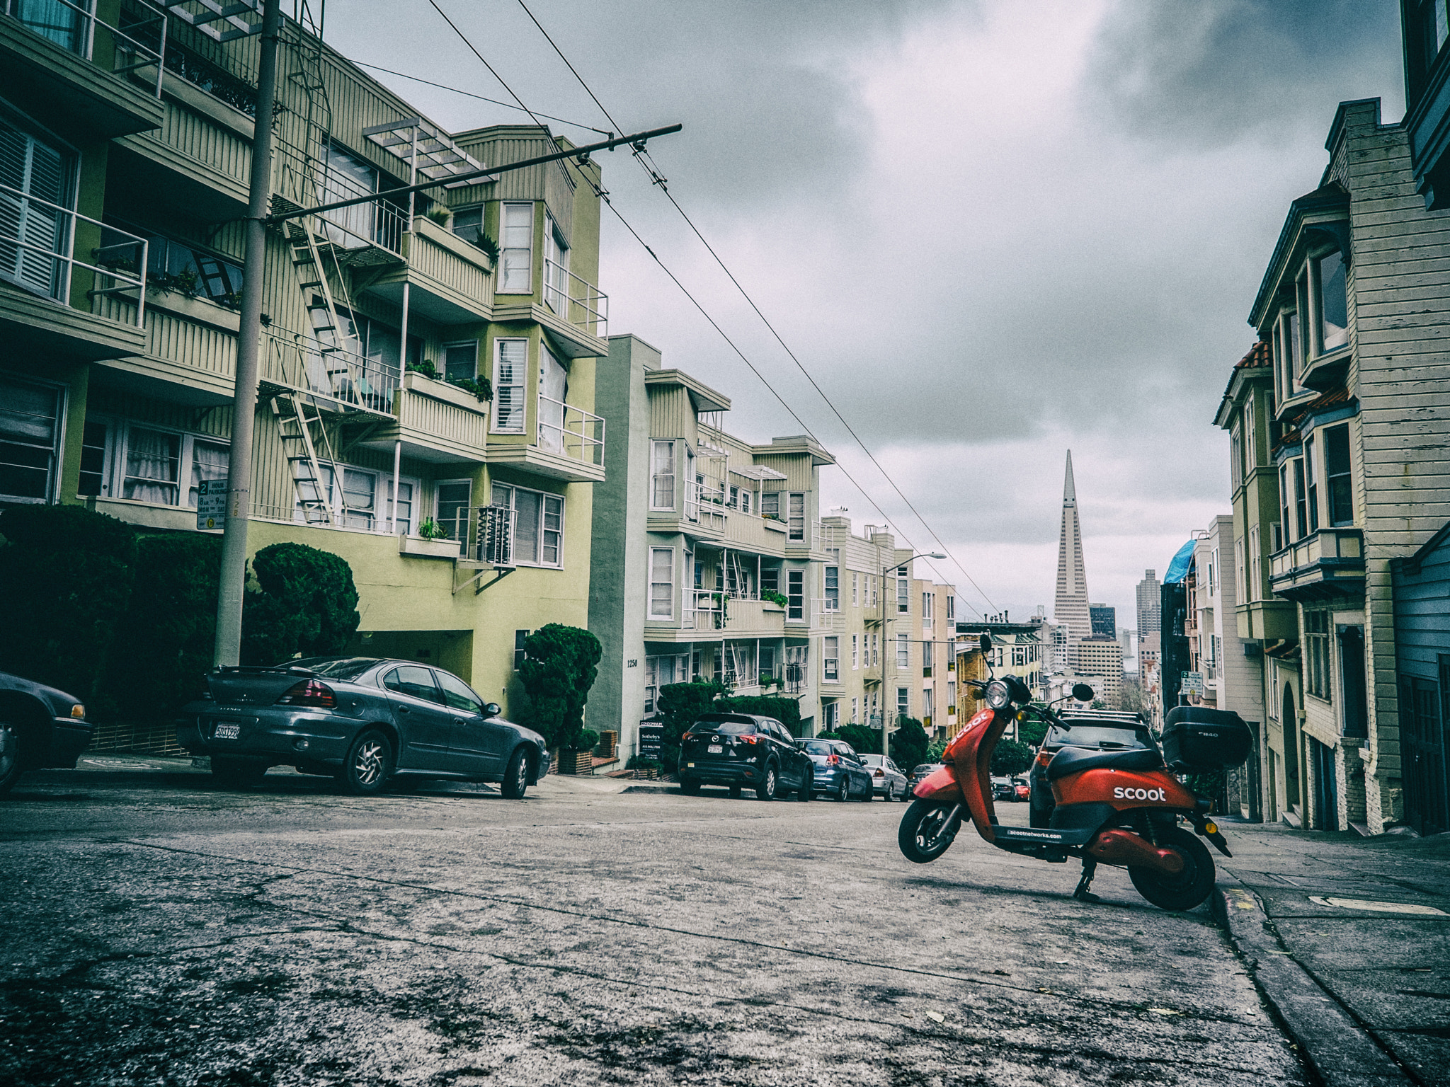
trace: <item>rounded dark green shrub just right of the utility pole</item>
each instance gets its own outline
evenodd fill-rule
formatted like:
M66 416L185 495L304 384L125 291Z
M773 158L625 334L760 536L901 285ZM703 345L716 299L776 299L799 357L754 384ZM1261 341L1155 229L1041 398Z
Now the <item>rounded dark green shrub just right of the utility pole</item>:
M306 544L273 544L252 557L258 588L242 607L242 664L342 652L357 633L358 590L347 559Z

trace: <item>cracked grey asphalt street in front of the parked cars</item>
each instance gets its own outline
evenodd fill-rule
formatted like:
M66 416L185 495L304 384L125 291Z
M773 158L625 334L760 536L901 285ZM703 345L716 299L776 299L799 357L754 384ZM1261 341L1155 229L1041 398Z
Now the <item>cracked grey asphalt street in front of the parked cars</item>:
M1025 823L1025 806L1003 804ZM1299 1084L1208 907L905 804L223 791L90 758L0 803L0 1083Z

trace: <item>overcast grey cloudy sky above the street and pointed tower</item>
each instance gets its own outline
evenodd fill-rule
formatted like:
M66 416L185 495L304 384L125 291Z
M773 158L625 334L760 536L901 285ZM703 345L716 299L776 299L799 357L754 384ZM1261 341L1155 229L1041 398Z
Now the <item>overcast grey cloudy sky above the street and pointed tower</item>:
M610 128L518 0L438 3L531 109ZM683 122L670 191L929 529L624 152L615 206L870 496L825 470L822 504L937 533L967 615L1051 610L1070 448L1092 597L1134 625L1143 570L1228 512L1214 412L1337 103L1404 113L1395 0L528 3L621 126ZM328 7L348 57L509 99L428 0ZM521 116L380 78L454 130ZM610 216L600 280L729 429L800 432Z

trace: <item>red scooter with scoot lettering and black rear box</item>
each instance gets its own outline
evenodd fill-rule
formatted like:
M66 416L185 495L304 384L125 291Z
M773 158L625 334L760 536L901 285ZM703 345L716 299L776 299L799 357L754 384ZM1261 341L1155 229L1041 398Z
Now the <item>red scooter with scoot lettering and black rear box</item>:
M992 639L982 636L983 651ZM1163 752L1157 748L1092 751L1061 748L1047 765L1057 806L1047 828L998 823L992 804L992 752L1008 722L1037 716L1057 720L1051 707L1031 706L1031 691L1018 677L972 681L986 697L942 757L942 768L912 793L916 800L902 817L898 844L906 859L928 864L957 836L963 816L998 849L1066 862L1080 857L1082 878L1073 897L1096 901L1092 877L1099 864L1121 865L1138 893L1166 910L1190 910L1214 890L1214 858L1208 848L1179 826L1189 823L1224 857L1228 844L1209 819L1211 804L1189 791L1172 771L1238 765L1248 757L1251 733L1238 715L1202 707L1177 707L1167 716ZM1089 701L1086 684L1073 699ZM1164 759L1167 757L1167 759Z

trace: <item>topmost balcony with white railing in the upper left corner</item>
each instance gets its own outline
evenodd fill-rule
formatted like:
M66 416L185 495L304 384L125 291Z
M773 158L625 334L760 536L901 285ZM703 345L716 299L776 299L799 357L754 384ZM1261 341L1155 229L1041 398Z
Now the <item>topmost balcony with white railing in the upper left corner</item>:
M167 17L120 30L94 14L94 0L0 0L0 68L14 72L32 100L75 117L100 136L161 125L161 70Z

